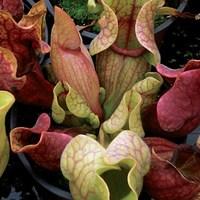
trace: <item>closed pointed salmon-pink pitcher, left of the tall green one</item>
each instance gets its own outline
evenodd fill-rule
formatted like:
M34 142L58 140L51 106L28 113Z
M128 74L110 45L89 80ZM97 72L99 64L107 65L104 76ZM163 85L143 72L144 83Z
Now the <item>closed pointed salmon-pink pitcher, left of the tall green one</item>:
M56 78L67 82L86 100L90 109L101 117L100 86L92 59L82 44L73 20L58 7L55 8L51 48Z

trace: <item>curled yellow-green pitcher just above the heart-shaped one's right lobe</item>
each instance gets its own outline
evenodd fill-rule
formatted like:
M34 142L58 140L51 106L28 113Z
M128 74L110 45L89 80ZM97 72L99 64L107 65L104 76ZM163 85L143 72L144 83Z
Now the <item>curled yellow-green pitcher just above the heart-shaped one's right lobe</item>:
M145 77L144 80L137 82L131 90L124 94L117 109L102 124L100 131L101 142L104 139L109 140L109 137L112 140L124 129L132 130L141 137L144 136L141 112L145 107L155 102L163 82L158 73L147 73ZM104 137L102 134L111 134L112 136ZM105 143L107 142L105 141Z

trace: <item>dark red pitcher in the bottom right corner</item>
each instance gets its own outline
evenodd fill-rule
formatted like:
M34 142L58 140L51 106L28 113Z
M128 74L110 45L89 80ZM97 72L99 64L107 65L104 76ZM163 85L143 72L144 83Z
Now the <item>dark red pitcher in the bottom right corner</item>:
M145 142L152 152L151 169L144 179L150 196L156 200L197 200L200 183L186 179L170 163L178 145L162 138L145 138ZM185 159L185 156L181 157Z

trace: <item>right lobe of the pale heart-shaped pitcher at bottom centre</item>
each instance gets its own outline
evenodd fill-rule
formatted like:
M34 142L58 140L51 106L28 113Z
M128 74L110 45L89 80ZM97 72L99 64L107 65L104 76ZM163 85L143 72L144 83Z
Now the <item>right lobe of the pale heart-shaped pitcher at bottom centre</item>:
M137 199L142 189L143 176L150 168L151 156L148 146L134 132L123 131L108 146L105 160L130 170L128 185L137 193Z

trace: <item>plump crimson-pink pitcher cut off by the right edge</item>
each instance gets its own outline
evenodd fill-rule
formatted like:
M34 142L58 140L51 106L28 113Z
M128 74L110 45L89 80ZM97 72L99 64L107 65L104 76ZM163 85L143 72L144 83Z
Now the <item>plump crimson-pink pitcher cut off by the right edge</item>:
M200 124L200 60L189 61L184 71L173 76L166 71L163 74L176 80L157 105L144 113L144 126L170 137L184 136Z

